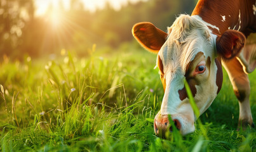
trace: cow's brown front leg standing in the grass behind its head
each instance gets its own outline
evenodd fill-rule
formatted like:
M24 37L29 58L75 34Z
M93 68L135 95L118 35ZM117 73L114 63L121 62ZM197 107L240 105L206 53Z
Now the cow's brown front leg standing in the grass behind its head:
M239 101L238 127L243 127L243 129L248 125L254 127L249 101L250 82L248 75L243 71L243 66L236 58L229 61L223 61L222 63L227 70L234 94Z

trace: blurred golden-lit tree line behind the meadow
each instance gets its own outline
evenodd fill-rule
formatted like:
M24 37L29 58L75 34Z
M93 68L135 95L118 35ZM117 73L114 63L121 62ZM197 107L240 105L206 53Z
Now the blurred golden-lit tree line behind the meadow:
M131 27L135 23L152 22L166 30L175 16L190 14L195 5L194 0L149 0L128 3L119 11L107 4L91 13L79 0L71 0L69 10L60 1L60 23L53 28L53 6L46 15L35 16L34 0L0 0L0 53L22 59L24 54L38 57L63 48L86 55L93 44L116 48L133 39Z

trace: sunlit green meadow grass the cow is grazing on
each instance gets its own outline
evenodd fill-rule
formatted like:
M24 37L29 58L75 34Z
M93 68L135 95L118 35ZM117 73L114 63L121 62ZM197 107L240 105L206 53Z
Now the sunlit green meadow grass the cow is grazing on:
M23 63L4 58L1 151L256 151L255 130L236 131L238 101L226 72L196 131L161 139L153 129L163 98L155 54L133 44L89 52L86 58L66 53Z

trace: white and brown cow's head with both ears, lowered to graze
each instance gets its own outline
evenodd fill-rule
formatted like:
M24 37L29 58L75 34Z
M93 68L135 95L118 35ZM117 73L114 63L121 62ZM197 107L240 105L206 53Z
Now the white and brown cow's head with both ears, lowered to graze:
M156 64L165 95L161 110L154 118L154 131L165 136L168 115L171 115L182 135L194 132L196 117L184 80L201 115L222 86L222 66L218 59L229 60L236 56L245 44L245 36L235 30L213 34L201 20L189 15L180 15L168 28L168 33L147 22L134 25L132 32L145 49L158 53Z

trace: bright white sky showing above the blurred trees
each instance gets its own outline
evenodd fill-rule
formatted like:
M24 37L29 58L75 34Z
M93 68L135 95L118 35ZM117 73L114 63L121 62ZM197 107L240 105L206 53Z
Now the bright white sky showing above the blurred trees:
M54 8L58 8L59 1L62 1L65 9L69 9L70 0L35 0L36 4L36 15L44 15L49 4L53 4ZM131 3L137 3L138 1L147 1L147 0L81 0L86 9L90 11L95 11L97 8L104 8L105 3L109 2L111 6L118 10L122 5L125 5L130 1Z

